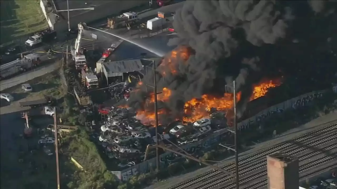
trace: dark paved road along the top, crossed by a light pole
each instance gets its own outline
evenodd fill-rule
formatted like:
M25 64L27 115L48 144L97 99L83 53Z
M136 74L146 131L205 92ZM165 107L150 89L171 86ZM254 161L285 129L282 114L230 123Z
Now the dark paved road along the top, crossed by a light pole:
M70 17L70 28L77 28L77 24L80 22L90 23L100 18L109 17L110 15L119 15L121 11L127 10L142 4L148 4L148 0L111 0L109 3L96 6L95 10L87 11L83 14L78 14ZM67 21L57 22L54 25L56 31L66 31L68 29Z

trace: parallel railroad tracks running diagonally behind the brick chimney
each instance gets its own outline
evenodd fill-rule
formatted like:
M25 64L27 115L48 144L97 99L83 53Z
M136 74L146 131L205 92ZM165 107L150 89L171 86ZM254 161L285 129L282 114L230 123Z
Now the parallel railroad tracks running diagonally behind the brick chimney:
M289 155L302 155L304 152L309 150L308 147L305 147L305 146L317 147L317 146L321 146L329 142L332 142L334 140L336 142L337 141L336 133L337 133L337 124L332 124L324 128L307 133L305 135L302 135L300 137L297 137L293 140L280 143L271 148L268 148L268 149L259 151L255 154L252 154L250 156L241 158L239 160L239 175L242 176L242 175L250 174L252 172L257 172L259 169L262 169L262 168L265 169L266 155L272 154L274 152L282 151L284 153L288 153ZM303 144L303 146L299 147L298 144ZM335 144L328 144L328 146L329 145L335 145ZM317 155L317 153L323 153L323 152L319 152L319 151L310 152L304 155L309 155L309 154ZM311 157L314 157L314 156L311 156ZM234 172L235 162L229 163L225 166L222 166L221 168L226 169L227 171L230 171L230 172ZM261 170L261 171L263 172L265 170ZM258 172L258 173L261 173L261 172ZM266 173L261 173L261 174L266 174ZM262 176L264 175L261 175L261 177ZM222 172L218 170L213 170L208 173L197 176L189 181L180 183L174 187L171 187L170 189L206 189L206 188L209 189L215 186L217 188L218 187L220 188L220 187L224 187L226 183L231 183L232 181L233 181L232 176L223 174Z

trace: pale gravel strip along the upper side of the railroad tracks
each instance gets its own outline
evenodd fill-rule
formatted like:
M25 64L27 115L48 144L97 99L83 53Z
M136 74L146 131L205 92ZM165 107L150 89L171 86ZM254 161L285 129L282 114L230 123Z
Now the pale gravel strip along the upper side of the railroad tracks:
M273 140L266 141L266 142L257 144L255 146L252 146L250 150L239 154L239 156L240 156L239 158L251 155L251 154L256 153L260 150L272 147L272 146L274 146L278 143L281 143L281 142L284 142L284 141L287 141L287 140L291 140L293 138L296 138L298 136L304 135L304 134L309 133L313 130L328 126L328 125L333 124L333 123L337 123L337 112L333 112L333 113L330 113L328 115L316 118L316 119L310 121L309 123L307 123L305 125L302 125L300 127L297 127L297 128L294 128L294 129L291 129L291 130L285 132L284 134L282 134L281 136L278 136L277 138L275 138ZM226 165L230 162L233 162L233 161L234 161L234 157L229 157L229 158L223 160L223 162L219 163L218 166L219 167L224 166L224 165ZM173 186L175 186L175 185L177 185L181 182L184 182L184 181L192 179L192 178L194 178L198 175L209 172L212 169L213 168L210 168L210 167L201 168L201 169L198 169L194 172L187 173L185 175L179 175L179 176L175 176L175 177L169 178L167 180L161 181L159 183L156 183L154 185L151 185L151 186L147 187L146 189L168 189L168 188L173 187Z

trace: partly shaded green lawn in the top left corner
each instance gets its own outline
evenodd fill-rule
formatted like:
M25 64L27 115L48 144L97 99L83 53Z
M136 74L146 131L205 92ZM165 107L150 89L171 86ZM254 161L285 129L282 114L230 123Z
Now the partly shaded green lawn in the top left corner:
M1 44L47 27L39 0L1 1Z

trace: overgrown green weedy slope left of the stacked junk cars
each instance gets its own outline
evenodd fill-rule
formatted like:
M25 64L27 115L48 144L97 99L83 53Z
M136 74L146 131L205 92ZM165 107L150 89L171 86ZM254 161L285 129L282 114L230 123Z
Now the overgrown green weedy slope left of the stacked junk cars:
M89 136L82 128L62 138L62 154L73 157L83 168L72 166L73 173L63 180L68 188L100 189L116 186L115 177L106 169L106 165ZM69 167L69 166L68 166Z

